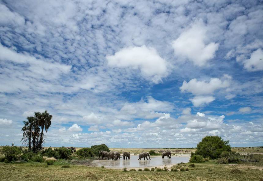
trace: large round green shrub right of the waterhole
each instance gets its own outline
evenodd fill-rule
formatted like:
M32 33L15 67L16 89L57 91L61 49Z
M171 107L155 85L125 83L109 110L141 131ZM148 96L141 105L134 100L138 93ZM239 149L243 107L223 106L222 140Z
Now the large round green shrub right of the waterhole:
M197 144L195 154L216 159L220 157L223 151L231 151L228 143L229 141L224 141L219 136L206 136Z

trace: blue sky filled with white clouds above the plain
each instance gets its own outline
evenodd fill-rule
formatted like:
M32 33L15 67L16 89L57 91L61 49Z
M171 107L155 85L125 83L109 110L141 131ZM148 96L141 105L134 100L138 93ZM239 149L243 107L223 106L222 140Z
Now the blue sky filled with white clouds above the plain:
M0 0L0 145L263 146L263 1Z

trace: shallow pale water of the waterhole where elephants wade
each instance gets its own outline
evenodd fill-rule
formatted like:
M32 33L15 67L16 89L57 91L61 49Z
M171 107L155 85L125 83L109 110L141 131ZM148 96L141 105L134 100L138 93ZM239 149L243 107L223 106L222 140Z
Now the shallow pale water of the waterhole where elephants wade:
M151 157L151 160L138 160L139 156L131 156L130 160L94 160L93 163L97 164L97 166L104 166L106 168L132 168L132 167L156 167L167 164L178 164L181 162L187 163L189 162L190 157L176 157L172 156L172 159L168 159L167 156L162 158L161 156Z

